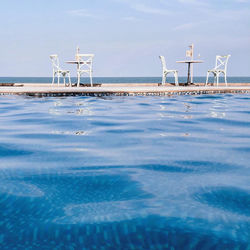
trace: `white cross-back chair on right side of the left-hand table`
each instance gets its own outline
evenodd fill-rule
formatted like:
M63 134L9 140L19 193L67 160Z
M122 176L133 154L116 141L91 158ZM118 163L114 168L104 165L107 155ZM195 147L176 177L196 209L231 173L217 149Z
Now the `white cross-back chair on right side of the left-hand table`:
M87 74L90 78L90 84L93 86L92 72L93 72L93 57L94 54L76 54L78 61L77 67L77 87L80 86L81 75Z

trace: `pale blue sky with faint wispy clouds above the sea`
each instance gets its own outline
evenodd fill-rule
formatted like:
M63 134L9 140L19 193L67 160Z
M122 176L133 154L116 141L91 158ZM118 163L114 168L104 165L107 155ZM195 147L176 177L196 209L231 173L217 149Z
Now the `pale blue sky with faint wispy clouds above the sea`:
M159 55L186 76L231 54L229 76L250 76L250 0L1 0L0 76L51 76L50 54L76 75L76 47L94 53L94 76L161 76Z

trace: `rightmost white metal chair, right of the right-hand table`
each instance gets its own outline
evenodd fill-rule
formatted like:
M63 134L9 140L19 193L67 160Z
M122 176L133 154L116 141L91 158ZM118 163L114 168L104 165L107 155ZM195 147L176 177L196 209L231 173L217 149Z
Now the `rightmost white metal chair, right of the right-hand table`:
M227 86L227 63L228 59L231 55L226 55L226 56L216 56L215 60L215 68L210 69L207 71L207 80L206 80L206 85L208 84L208 78L209 74L212 73L214 75L214 84L215 81L217 83L217 86L219 85L219 76L220 74L224 74L225 78L225 83Z

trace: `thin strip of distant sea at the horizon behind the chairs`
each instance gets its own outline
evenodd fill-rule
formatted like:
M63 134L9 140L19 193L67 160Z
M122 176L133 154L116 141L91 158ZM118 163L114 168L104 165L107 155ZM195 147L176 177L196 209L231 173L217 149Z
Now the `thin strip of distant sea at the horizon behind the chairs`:
M71 78L72 82L77 82L75 77ZM209 78L212 82L213 79ZM250 77L228 77L229 83L250 83ZM0 83L51 83L51 77L0 77ZM61 79L62 82L62 79ZM82 83L89 83L89 78L82 77ZM161 77L94 77L94 83L161 83ZM173 77L167 77L167 82L174 83ZM179 77L180 83L187 82L187 77ZM205 77L194 77L194 82L205 83ZM223 78L220 82L224 82Z

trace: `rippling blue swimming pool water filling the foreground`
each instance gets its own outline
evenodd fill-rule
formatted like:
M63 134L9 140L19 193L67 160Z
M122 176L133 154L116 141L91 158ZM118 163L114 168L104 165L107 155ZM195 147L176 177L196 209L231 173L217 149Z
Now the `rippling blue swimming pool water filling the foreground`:
M0 96L0 249L250 249L249 104Z

